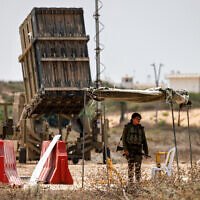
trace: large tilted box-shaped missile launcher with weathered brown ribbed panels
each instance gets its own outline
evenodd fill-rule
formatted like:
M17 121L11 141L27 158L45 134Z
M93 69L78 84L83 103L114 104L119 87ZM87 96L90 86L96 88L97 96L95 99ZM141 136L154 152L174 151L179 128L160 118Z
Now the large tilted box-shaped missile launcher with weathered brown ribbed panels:
M91 84L83 10L34 8L20 26L26 112L79 114Z

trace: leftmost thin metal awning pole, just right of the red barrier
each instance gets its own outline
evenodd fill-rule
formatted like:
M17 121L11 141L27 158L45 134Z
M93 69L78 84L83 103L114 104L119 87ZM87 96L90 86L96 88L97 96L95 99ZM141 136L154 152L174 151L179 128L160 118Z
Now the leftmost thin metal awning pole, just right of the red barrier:
M85 107L86 107L86 91L84 91L84 109L83 109L83 144L82 144L82 188L84 187L84 162L85 162Z

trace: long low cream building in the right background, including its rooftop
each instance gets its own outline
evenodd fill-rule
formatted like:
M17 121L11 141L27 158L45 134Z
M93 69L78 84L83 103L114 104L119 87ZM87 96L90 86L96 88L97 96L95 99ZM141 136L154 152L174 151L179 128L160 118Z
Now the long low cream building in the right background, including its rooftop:
M200 92L200 74L181 74L178 72L166 75L165 78L168 80L170 88Z

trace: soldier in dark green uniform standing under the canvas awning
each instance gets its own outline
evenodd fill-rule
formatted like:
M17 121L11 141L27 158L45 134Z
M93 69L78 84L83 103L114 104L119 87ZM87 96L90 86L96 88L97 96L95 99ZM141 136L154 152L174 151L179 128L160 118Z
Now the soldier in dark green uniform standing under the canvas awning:
M122 135L123 149L128 161L128 177L130 183L133 182L134 171L136 181L140 181L142 149L144 150L146 158L148 155L144 127L140 125L141 118L139 113L133 113L131 121L125 125Z

